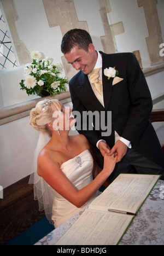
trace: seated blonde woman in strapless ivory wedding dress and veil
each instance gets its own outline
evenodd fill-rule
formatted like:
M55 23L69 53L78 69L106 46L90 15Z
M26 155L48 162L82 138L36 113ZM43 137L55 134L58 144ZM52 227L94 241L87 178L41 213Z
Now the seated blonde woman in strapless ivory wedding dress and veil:
M40 210L45 210L57 228L99 195L98 189L113 172L116 158L106 154L103 170L98 172L86 137L69 136L75 119L57 100L37 103L31 110L30 124L43 136L30 183L34 183ZM49 142L43 142L46 135Z

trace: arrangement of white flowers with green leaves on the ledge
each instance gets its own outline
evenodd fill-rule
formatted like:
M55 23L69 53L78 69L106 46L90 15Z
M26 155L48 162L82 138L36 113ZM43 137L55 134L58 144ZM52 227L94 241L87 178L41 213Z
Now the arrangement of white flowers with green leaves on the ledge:
M56 95L66 91L66 78L59 74L62 71L60 64L53 64L49 57L40 60L42 54L33 51L31 54L32 63L25 65L24 80L21 80L21 90L26 90L28 95L37 94L40 96Z

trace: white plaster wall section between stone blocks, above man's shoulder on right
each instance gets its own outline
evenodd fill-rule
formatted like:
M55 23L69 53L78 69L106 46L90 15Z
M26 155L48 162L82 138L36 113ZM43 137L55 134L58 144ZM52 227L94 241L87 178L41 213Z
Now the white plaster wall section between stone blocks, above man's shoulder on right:
M116 46L120 53L140 51L143 68L150 66L149 53L145 38L149 36L143 8L139 8L137 1L110 1L112 12L108 14L110 24L122 21L125 33L115 36Z

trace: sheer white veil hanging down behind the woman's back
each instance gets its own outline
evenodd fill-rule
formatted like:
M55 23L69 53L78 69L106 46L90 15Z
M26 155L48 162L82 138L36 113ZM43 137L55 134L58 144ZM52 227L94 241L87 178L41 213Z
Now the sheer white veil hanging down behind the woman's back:
M38 200L39 211L45 212L46 218L49 220L50 224L54 225L52 217L52 205L54 202L54 195L52 194L51 188L44 181L44 179L38 176L37 173L37 159L40 151L49 142L50 138L43 134L39 135L38 144L34 151L34 159L32 165L32 172L30 176L29 184L33 184L34 189L34 200Z

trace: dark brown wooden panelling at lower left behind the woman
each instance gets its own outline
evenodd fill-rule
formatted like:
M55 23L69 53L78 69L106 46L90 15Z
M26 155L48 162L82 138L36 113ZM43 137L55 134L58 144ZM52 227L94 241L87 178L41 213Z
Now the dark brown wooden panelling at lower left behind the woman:
M44 211L38 211L38 201L34 201L29 178L27 176L4 189L4 199L0 201L0 245L5 245L45 217Z

